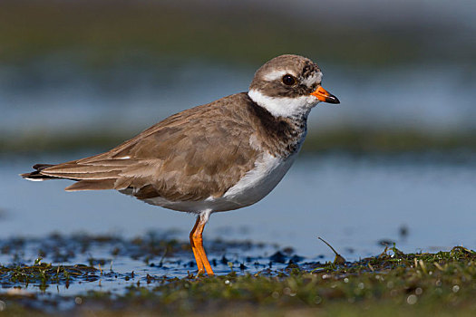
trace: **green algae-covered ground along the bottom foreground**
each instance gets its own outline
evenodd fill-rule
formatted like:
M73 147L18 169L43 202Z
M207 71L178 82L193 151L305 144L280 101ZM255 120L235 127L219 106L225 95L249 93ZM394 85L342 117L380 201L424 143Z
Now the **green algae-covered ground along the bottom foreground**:
M90 270L66 267L65 271L77 269ZM10 270L33 274L44 283L55 283L52 277L58 275L58 268L40 263ZM44 302L47 309L38 305L33 309L25 303L39 299L25 300L18 294L4 293L0 298L6 303L4 312L11 315L469 316L476 313L476 253L456 246L448 252L403 254L393 246L381 255L344 264L288 264L275 272L213 277L148 275L144 283L129 284L121 294L100 290L64 296L58 301L73 303L66 311Z

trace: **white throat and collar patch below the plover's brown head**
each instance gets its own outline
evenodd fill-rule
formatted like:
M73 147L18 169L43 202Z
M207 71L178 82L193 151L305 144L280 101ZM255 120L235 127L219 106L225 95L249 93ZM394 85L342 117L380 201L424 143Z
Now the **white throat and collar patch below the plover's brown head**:
M257 90L248 91L248 96L273 116L285 118L307 118L309 111L319 102L311 95L296 98L269 97Z

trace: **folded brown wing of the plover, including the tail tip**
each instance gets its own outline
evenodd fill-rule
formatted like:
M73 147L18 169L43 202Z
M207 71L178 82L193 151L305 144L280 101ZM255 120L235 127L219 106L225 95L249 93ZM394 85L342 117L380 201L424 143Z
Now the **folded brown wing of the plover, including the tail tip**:
M257 150L249 142L253 129L243 122L227 107L200 106L173 115L108 152L59 165L37 165L36 171L22 176L76 180L65 188L68 191L130 189L139 198L170 201L219 197L254 166Z

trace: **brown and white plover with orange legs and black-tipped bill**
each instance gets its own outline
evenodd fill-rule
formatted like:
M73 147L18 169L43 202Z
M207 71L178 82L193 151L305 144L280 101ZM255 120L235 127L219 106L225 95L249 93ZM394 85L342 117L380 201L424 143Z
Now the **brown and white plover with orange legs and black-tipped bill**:
M116 189L196 214L190 245L199 274L212 275L202 243L209 216L255 204L277 186L301 149L310 110L339 103L321 80L316 63L281 55L257 70L248 92L181 111L105 153L36 164L22 177L71 179L67 191Z

